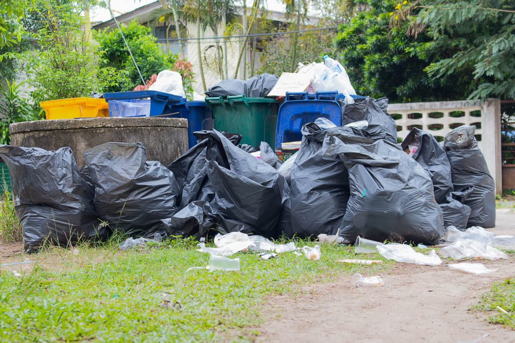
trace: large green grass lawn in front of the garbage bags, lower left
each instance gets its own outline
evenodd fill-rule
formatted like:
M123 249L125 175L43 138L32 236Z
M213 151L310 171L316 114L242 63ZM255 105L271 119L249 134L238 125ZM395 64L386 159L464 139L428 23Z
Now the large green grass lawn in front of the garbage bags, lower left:
M237 253L232 258L241 259L241 271L186 272L209 261L190 239L128 251L117 246L112 238L99 247L79 246L75 252L47 248L28 256L37 263L22 276L0 270L0 341L250 340L257 334L252 327L267 319L260 313L269 296L296 295L303 285L346 274L350 281L355 272L376 275L393 264L332 262L384 259L379 254L356 256L349 246L323 245L320 261L292 252L267 261ZM241 332L245 337L234 336Z

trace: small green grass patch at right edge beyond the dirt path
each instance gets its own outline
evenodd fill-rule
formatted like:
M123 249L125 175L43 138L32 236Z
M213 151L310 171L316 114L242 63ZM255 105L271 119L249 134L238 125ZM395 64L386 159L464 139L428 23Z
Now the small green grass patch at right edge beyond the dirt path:
M515 330L515 278L494 283L474 308L488 313L488 322Z

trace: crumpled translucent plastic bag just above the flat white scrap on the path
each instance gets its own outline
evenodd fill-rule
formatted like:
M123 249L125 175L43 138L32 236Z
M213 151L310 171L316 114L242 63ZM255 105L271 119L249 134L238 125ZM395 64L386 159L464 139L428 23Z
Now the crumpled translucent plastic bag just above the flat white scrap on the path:
M441 248L439 251L443 258L461 259L487 259L500 260L507 259L508 255L499 249L495 249L484 243L472 241L472 239L458 239L453 244Z

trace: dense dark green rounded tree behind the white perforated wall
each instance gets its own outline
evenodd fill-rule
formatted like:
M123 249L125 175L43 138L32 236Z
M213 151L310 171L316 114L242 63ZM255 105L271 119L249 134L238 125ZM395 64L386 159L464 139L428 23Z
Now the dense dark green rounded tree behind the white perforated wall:
M357 0L363 7L339 28L336 44L358 94L386 96L391 102L466 98L472 91L472 69L431 77L426 68L452 54L460 42L435 41L431 29L416 38L406 35L408 21L390 25L402 4L395 0ZM404 4L407 4L404 1ZM410 13L416 15L416 13Z

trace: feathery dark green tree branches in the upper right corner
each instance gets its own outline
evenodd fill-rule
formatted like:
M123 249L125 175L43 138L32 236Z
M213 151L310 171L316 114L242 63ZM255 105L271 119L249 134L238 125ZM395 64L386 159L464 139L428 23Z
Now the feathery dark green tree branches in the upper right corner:
M471 98L515 98L515 1L424 0L408 11L413 9L420 11L410 21L411 33L458 47L428 66L433 79L459 75L472 66Z

